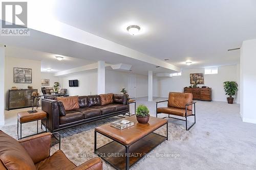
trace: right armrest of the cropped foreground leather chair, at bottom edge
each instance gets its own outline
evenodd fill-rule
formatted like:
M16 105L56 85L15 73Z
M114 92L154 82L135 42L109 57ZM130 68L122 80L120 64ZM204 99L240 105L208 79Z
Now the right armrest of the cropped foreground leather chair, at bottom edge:
M100 158L93 158L87 162L80 164L73 170L102 170L102 160Z

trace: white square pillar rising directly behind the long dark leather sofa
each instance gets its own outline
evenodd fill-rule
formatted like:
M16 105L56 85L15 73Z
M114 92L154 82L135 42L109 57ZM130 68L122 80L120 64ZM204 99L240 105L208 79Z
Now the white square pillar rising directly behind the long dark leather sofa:
M105 62L98 61L98 94L105 93Z

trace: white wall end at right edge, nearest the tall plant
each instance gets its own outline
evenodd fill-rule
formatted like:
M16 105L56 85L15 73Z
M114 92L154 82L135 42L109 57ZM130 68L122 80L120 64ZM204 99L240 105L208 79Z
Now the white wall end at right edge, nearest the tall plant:
M241 115L243 122L255 123L256 39L243 41L240 55Z

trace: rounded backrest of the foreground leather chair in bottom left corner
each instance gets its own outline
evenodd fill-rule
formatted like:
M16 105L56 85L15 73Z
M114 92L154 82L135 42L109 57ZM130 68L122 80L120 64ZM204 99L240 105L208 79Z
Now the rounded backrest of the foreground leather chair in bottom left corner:
M0 131L0 159L7 169L36 169L33 160L23 146L3 131Z

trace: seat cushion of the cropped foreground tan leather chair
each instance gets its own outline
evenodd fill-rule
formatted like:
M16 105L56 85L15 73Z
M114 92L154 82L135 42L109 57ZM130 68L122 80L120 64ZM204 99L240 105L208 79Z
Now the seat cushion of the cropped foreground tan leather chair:
M71 162L66 155L61 151L56 151L52 156L46 158L45 160L35 164L37 170L41 169L74 169L76 165Z

